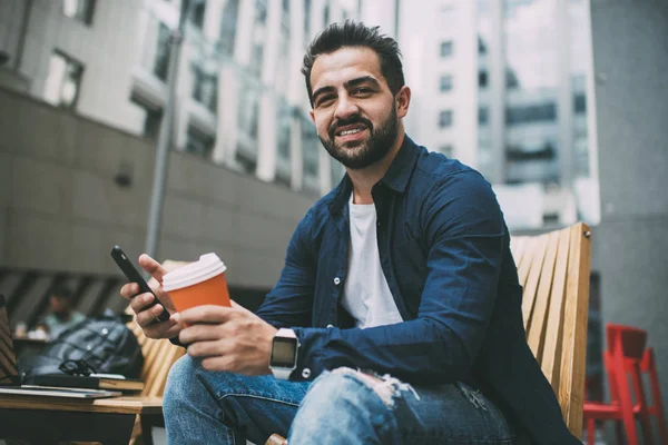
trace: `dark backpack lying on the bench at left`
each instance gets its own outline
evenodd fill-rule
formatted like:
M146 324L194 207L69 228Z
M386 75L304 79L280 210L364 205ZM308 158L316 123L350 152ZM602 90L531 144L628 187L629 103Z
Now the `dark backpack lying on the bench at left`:
M65 330L38 354L19 359L21 382L43 375L121 374L136 378L144 366L137 337L110 312Z

